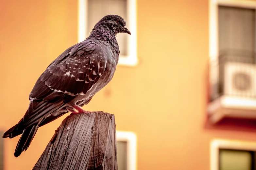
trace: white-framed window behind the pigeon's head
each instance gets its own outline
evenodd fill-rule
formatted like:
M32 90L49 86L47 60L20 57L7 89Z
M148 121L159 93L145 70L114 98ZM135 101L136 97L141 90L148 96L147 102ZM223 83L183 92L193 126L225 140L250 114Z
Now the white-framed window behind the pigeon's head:
M104 16L115 14L126 20L131 35L118 34L120 65L137 64L136 0L78 0L78 41L90 35L94 25Z

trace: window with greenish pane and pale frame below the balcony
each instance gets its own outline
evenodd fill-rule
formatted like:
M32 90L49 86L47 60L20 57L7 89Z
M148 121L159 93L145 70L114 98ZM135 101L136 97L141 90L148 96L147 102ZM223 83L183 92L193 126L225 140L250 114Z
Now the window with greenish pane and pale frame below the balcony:
M254 170L256 143L233 140L211 142L211 170Z

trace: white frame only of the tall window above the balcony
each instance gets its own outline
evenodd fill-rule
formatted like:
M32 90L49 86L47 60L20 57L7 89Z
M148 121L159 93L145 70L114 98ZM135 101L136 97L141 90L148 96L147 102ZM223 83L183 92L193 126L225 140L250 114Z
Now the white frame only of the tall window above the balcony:
M248 0L209 0L209 56L216 61L219 56L218 5L256 9L256 1ZM256 37L255 37L256 38Z

